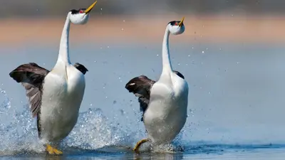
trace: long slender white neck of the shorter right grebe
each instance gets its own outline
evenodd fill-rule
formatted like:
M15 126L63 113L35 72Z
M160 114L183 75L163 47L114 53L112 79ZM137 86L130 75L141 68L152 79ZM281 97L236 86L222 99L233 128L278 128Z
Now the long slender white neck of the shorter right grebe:
M170 31L168 28L165 30L165 36L162 43L162 73L172 72L172 66L170 62L170 53L169 53L169 41Z

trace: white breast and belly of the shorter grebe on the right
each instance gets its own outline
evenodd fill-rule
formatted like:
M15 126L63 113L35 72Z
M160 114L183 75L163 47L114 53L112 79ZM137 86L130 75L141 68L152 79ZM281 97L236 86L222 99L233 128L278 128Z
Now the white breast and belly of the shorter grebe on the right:
M187 118L188 85L173 75L171 81L158 80L150 92L144 116L147 134L154 144L172 142Z

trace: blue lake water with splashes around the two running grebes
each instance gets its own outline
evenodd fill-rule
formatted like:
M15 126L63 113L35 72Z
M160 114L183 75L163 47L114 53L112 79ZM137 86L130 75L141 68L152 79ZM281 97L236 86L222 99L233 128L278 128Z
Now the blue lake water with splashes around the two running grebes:
M281 159L285 150L285 48L269 45L172 44L172 66L190 85L187 123L176 154L133 154L146 136L138 101L125 83L144 74L156 80L161 45L72 46L71 61L88 68L78 124L63 140L70 159ZM9 78L22 63L51 69L57 46L1 48L0 155L44 159L36 119L24 88ZM53 157L53 159L57 159Z

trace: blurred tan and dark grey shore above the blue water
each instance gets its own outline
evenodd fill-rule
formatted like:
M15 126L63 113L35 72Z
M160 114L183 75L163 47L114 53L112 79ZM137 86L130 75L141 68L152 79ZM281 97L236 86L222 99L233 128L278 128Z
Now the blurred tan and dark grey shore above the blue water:
M87 8L92 2L0 1L1 45L58 42L67 12ZM86 38L101 42L160 42L166 24L185 16L187 36L177 38L182 41L279 43L285 37L281 32L285 27L284 4L281 0L101 0L85 31L73 26L71 38L88 35Z

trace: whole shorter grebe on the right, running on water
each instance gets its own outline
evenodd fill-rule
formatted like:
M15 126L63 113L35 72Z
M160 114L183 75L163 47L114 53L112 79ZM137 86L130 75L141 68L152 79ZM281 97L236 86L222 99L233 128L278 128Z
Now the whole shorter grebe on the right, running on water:
M169 50L170 33L184 33L183 21L184 17L181 21L171 21L165 28L160 78L152 82L141 76L131 80L126 86L139 97L140 107L144 111L142 120L147 131L147 139L140 140L134 151L138 151L141 144L149 141L153 147L171 143L185 125L189 87L184 76L172 70Z

